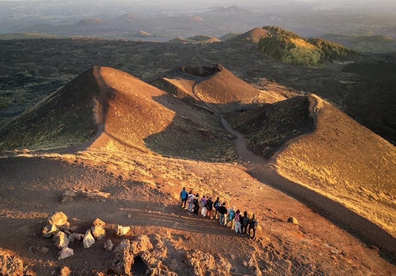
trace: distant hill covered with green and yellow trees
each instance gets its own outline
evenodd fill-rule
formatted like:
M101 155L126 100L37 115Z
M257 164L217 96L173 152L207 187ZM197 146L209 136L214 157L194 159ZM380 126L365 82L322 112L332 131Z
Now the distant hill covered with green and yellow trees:
M358 54L341 44L319 38L304 39L278 27L265 26L263 29L270 35L259 40L258 48L287 64L317 66L328 59Z

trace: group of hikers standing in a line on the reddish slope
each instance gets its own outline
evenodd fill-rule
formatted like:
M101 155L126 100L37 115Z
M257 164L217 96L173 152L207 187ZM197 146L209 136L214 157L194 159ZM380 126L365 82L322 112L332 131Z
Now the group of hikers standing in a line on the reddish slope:
M218 218L220 225L230 226L231 230L234 229L235 233L241 236L246 236L248 233L250 237L254 240L256 239L258 220L255 214L253 214L252 218L249 218L247 211L243 212L242 215L239 209L235 210L235 206L227 208L227 203L225 201L221 202L219 197L216 201L212 200L212 196L208 198L205 195L199 197L198 193L194 194L193 191L187 192L185 187L180 192L180 199L180 207L186 208L187 205L190 214L198 214L200 208L200 213L203 217L208 216L211 219ZM251 236L252 231L253 236Z

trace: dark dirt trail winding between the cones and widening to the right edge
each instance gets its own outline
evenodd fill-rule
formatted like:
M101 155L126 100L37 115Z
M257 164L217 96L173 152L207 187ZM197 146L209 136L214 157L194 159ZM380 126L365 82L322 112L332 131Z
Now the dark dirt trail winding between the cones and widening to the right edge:
M246 139L241 133L234 130L223 118L221 118L221 123L230 134L236 137L234 147L239 157L246 162L244 167L251 176L265 185L270 185L296 198L367 246L376 246L383 258L396 264L396 239L391 234L342 204L283 178L268 160L257 156L247 148Z

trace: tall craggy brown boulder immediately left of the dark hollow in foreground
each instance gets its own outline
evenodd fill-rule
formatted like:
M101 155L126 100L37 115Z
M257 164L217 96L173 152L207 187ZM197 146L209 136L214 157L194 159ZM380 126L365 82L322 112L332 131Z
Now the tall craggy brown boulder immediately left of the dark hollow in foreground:
M130 254L131 244L128 239L123 239L114 250L114 258L110 269L115 274L131 275L134 255Z

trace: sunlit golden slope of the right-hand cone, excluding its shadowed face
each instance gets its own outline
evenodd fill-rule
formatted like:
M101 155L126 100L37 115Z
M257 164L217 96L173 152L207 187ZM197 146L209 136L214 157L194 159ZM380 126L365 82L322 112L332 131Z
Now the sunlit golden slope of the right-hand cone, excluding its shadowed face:
M276 157L286 178L341 202L396 236L396 149L318 97L315 131Z

